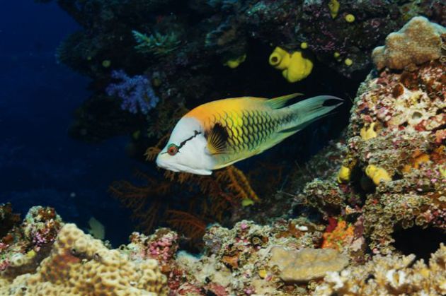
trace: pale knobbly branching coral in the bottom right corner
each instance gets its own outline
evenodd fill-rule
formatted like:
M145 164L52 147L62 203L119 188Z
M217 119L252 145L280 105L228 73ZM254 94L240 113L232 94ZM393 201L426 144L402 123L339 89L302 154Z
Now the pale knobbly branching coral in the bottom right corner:
M414 263L415 256L374 256L364 266L328 273L314 295L445 295L446 247Z

